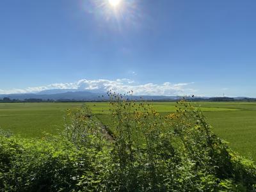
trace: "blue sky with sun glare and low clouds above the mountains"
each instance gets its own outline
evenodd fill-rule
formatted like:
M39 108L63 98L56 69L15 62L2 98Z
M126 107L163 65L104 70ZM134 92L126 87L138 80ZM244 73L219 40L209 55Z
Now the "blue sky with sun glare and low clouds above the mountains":
M254 0L2 0L0 93L113 84L256 97L255 10Z

